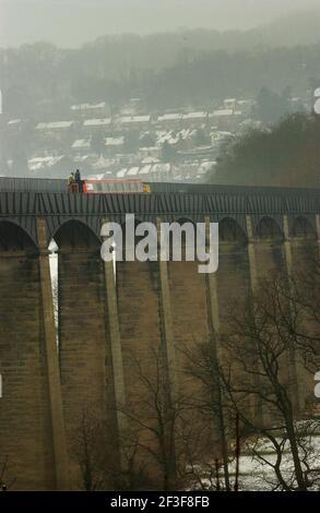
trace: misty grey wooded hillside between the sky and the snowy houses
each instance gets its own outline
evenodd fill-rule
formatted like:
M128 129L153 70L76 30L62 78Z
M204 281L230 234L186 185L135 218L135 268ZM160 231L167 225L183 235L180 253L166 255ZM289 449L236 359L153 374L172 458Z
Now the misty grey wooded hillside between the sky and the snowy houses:
M320 10L247 32L127 34L80 49L47 43L0 49L4 109L12 117L59 119L73 103L117 109L132 97L149 111L201 109L228 96L254 98L262 86L278 94L289 86L306 100L320 83L318 26Z

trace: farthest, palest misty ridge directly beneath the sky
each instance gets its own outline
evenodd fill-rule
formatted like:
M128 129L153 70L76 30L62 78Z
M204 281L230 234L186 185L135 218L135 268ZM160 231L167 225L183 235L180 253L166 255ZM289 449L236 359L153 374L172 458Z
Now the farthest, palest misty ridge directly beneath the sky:
M190 59L199 52L226 50L254 50L320 41L320 9L295 11L250 31L180 29L165 34L138 36L125 34L104 36L84 45L83 50L104 51L112 65L112 57L119 58L118 67L161 69L177 60Z

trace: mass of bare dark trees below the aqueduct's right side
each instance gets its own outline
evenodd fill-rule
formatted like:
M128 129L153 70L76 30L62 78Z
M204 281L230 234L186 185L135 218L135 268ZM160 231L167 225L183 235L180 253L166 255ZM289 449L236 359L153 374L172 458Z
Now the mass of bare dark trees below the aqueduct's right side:
M117 489L237 491L245 444L269 488L318 487L319 420L306 419L295 401L303 373L317 368L317 279L310 274L270 279L233 306L227 335L180 347L181 377L192 385L185 387L182 380L174 399L164 348L150 349L149 358L132 355L134 384L121 408L128 419L119 441L125 466L112 460L105 423L86 409L75 437L83 487L104 489L112 476Z

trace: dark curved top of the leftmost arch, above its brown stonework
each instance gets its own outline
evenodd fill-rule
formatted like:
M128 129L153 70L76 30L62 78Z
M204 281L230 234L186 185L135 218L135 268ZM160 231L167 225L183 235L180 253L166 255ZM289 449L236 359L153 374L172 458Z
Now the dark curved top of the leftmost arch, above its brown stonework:
M37 247L28 232L17 223L0 222L0 251L35 252Z

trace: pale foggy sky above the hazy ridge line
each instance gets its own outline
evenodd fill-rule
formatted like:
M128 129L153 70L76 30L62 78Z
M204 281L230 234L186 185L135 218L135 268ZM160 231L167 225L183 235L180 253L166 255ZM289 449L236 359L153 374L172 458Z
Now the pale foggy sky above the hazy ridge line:
M251 28L319 0L0 0L0 46L76 47L105 34Z

